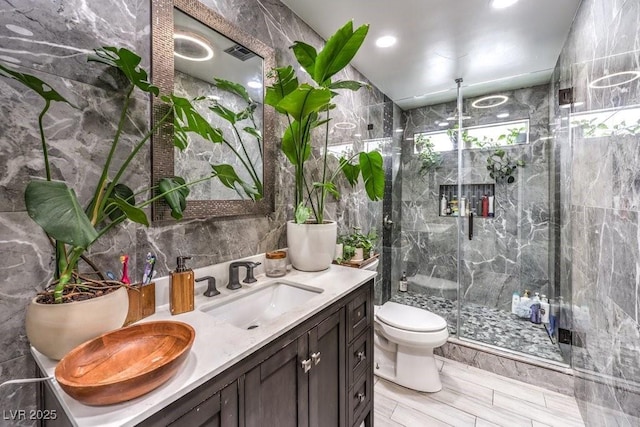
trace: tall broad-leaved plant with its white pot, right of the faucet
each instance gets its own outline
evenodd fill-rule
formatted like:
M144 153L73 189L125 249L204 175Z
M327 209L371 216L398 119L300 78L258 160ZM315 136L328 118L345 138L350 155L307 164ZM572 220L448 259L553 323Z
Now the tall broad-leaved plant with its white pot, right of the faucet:
M335 251L337 226L325 220L328 194L339 197L336 178L340 173L354 186L362 176L367 196L380 200L384 194L382 155L377 151L355 153L339 159L330 170L329 124L335 107L332 99L338 90L357 91L366 86L356 81L336 80L360 49L369 30L362 25L355 31L349 21L329 37L320 51L304 42L294 42L291 49L298 64L308 73L312 83L300 83L294 67L272 70L273 84L267 87L265 104L287 118L282 136L282 151L294 168L295 220L287 222L287 245L291 264L303 271L320 271L331 265ZM325 138L320 167L313 174L306 167L313 149L315 131L324 127Z

